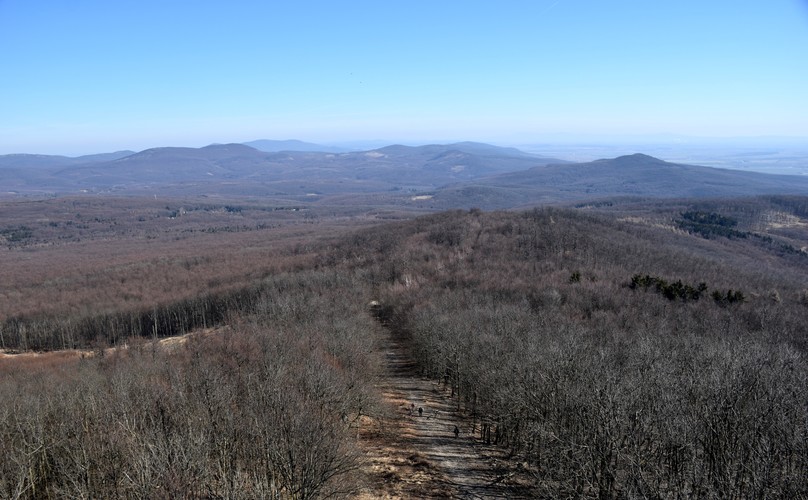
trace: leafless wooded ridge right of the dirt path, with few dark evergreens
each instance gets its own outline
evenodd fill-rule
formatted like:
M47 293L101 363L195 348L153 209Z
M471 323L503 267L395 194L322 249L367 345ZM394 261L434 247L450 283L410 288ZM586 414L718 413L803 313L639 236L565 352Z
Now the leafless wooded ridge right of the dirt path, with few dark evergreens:
M781 281L765 252L741 267L724 242L689 251L705 242L452 212L368 231L328 265L367 270L423 373L528 461L540 496L804 496L805 257ZM703 293L668 292L685 287Z

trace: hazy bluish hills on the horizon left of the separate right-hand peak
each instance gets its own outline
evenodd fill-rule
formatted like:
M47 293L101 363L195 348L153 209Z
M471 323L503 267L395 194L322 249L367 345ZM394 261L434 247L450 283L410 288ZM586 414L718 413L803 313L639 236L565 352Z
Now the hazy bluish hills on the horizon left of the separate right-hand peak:
M0 169L3 160L0 158ZM12 161L5 159L6 163ZM3 169L8 191L173 195L411 192L561 160L487 144L388 146L347 153L265 152L244 144L153 148L109 161L44 157Z

